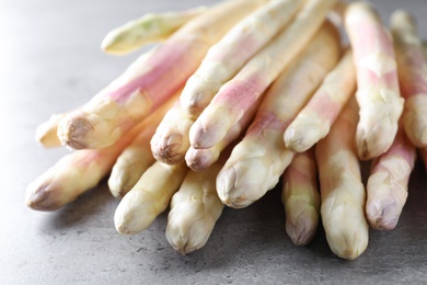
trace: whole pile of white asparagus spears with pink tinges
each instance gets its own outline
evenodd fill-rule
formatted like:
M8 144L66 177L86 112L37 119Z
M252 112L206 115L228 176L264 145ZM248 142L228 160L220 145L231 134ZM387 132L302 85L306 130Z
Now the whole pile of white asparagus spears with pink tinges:
M106 53L158 44L38 126L43 146L72 151L26 203L58 209L109 174L117 231L141 232L170 207L165 236L185 254L224 206L250 206L284 175L292 242L310 242L321 218L331 250L356 259L369 227L396 226L417 153L427 160L423 43L403 10L386 26L371 4L338 0L226 0L130 21Z

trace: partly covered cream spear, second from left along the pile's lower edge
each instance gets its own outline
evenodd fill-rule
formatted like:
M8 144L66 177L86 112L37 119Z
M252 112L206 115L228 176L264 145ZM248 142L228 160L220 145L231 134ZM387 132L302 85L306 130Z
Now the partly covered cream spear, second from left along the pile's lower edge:
M143 121L141 132L118 156L108 178L108 187L114 197L123 197L138 182L142 173L154 162L150 139L157 126L173 102L175 94L165 104L155 110Z

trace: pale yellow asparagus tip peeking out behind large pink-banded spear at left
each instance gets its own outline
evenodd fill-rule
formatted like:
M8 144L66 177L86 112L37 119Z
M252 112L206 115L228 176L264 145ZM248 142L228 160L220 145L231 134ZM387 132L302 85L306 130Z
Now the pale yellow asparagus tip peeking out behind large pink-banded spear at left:
M45 148L60 147L61 142L57 136L58 123L65 116L65 113L54 114L49 119L37 126L35 139Z

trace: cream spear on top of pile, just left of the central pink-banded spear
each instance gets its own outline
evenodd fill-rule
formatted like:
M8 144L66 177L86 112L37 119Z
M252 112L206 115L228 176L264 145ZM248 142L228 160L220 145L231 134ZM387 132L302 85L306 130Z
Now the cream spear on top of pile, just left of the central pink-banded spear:
M270 0L240 21L209 49L188 79L181 95L182 106L191 114L199 115L220 87L290 22L303 2Z

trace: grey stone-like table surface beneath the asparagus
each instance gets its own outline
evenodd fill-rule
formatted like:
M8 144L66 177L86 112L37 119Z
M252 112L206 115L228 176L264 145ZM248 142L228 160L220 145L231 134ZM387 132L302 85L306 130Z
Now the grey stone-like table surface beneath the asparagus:
M54 213L24 204L26 185L67 150L41 148L35 127L106 86L137 54L100 50L107 31L143 12L214 0L0 0L0 284L427 284L427 179L418 161L397 227L370 231L355 261L336 258L322 228L307 247L285 233L279 189L244 209L226 208L208 243L181 255L164 237L166 214L120 236L118 201L105 181ZM427 1L373 1L384 20L397 8L427 38Z

